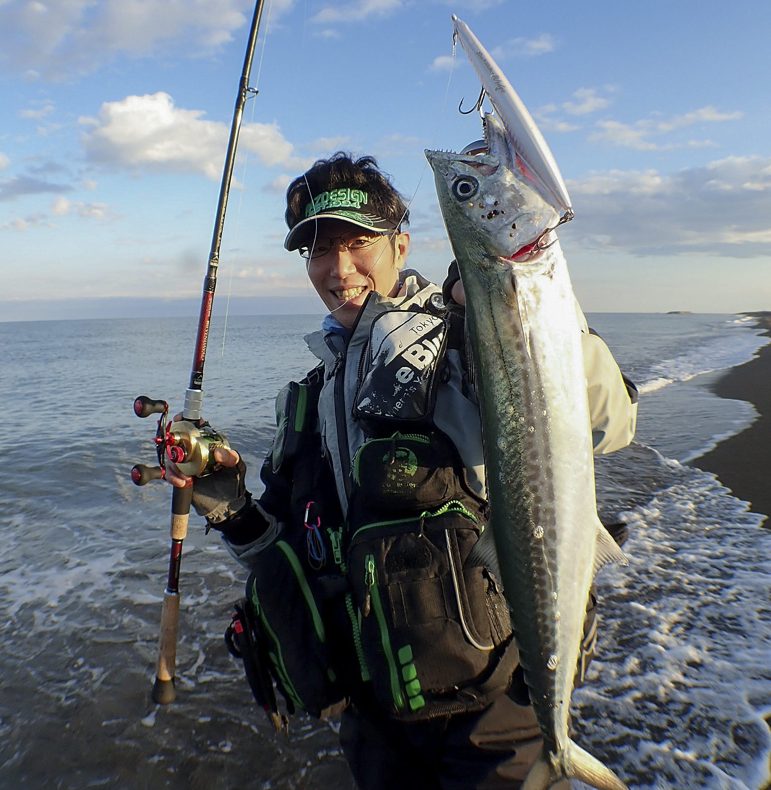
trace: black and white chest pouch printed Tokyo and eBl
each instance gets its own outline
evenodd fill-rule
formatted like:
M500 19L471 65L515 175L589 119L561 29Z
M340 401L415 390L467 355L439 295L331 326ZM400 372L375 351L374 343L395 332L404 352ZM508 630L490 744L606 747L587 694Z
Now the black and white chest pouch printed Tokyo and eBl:
M428 313L389 310L370 328L354 413L365 423L431 419L448 325Z

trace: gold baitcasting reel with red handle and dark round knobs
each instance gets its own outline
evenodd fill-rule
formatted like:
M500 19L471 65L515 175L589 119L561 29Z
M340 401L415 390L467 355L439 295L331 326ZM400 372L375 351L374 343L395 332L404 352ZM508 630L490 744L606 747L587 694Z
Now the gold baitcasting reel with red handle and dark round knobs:
M182 420L179 423L168 423L168 404L166 401L153 401L152 398L140 395L134 401L134 413L137 417L149 417L160 414L155 444L158 453L158 466L136 464L131 469L131 480L137 486L144 486L150 480L163 480L166 476L166 457L177 465L179 471L190 477L205 475L216 466L214 449L230 448L224 434L215 431L209 423L200 426Z

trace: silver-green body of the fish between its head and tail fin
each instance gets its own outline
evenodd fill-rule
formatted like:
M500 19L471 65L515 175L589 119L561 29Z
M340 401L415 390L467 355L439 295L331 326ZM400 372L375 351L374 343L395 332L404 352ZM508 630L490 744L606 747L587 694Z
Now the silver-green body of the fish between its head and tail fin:
M581 330L559 243L493 276L468 262L491 529L544 746L559 754L599 527Z

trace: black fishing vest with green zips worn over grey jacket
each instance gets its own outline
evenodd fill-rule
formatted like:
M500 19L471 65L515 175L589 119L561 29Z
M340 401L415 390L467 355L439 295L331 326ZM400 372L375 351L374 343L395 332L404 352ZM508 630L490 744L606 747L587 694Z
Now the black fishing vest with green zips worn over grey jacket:
M398 720L479 710L517 666L480 550L487 502L468 461L481 446L457 446L437 419L462 397L442 424L476 414L478 427L476 405L441 301L428 303L438 288L407 286L398 300L370 295L344 346L307 338L322 365L277 401L265 464L291 480L291 523L252 561L246 607L290 711L323 716L365 693Z

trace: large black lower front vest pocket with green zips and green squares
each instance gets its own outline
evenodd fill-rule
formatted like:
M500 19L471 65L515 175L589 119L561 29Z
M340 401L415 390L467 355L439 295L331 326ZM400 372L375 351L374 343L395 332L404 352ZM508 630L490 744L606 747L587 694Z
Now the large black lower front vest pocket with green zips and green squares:
M500 592L486 569L464 567L481 529L453 501L352 535L348 577L361 643L374 693L392 717L475 709L474 688L498 665L510 626L493 622L488 601L499 606Z

